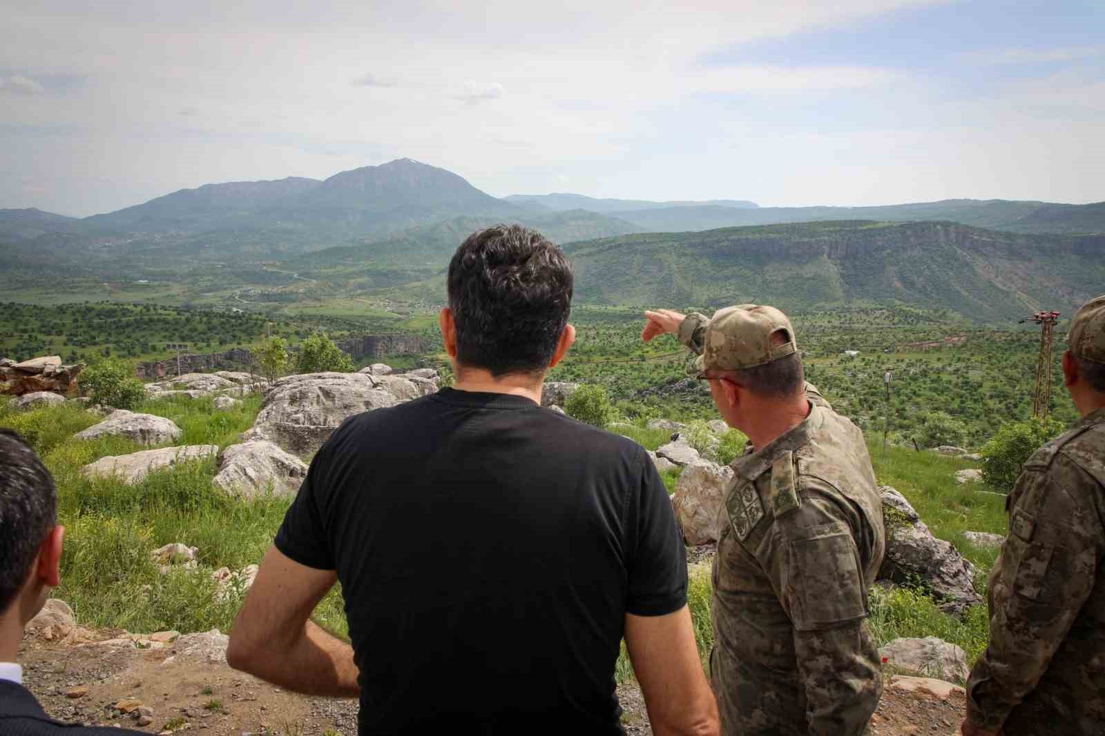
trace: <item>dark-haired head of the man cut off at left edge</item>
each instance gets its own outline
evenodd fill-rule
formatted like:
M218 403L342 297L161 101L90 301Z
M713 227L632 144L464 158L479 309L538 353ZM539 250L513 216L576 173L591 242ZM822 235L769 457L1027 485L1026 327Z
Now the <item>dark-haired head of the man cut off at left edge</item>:
M0 429L0 662L14 661L23 626L61 582L64 533L50 471L22 437Z

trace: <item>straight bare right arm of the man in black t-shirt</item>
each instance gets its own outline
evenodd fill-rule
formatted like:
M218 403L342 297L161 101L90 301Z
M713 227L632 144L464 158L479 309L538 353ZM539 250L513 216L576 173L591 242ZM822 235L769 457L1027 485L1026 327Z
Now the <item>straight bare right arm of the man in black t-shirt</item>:
M667 616L627 614L625 647L656 736L720 734L686 606Z

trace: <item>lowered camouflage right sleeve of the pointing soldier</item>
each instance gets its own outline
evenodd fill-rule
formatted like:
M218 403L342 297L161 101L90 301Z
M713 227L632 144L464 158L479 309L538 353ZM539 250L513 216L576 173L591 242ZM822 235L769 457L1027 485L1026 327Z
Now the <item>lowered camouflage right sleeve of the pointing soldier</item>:
M866 732L882 695L882 665L867 626L867 595L849 514L806 497L777 518L764 559L793 625L794 657L806 685L809 733Z

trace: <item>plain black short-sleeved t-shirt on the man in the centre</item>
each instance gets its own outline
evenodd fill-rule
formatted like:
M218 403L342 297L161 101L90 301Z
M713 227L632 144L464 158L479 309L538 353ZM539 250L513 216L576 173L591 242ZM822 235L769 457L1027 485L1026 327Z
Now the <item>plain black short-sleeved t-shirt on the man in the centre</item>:
M350 417L275 543L337 570L361 734L623 733L624 615L686 602L644 449L520 396L445 388Z

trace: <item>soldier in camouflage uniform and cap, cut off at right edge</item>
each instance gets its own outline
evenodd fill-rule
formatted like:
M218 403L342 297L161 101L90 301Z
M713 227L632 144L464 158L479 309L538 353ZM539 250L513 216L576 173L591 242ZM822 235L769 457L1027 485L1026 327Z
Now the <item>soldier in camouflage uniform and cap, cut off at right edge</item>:
M1029 458L1006 500L968 736L1105 734L1105 296L1067 339L1064 382L1082 419Z

